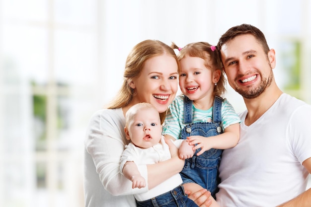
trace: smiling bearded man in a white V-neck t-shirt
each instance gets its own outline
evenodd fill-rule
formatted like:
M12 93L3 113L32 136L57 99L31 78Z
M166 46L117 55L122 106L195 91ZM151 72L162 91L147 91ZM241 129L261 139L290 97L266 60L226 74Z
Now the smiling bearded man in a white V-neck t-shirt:
M311 105L283 93L275 51L256 27L232 27L220 38L228 82L243 96L240 140L223 152L217 202L222 207L310 207Z

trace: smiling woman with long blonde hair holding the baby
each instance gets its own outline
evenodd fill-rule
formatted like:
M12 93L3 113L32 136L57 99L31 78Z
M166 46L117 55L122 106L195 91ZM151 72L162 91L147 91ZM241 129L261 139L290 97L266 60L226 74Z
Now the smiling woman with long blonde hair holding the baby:
M148 191L180 172L184 161L176 147L170 145L171 159L139 168L148 181L141 189L132 189L132 182L119 172L125 138L125 113L136 103L153 104L163 122L168 105L177 92L178 67L174 51L157 40L137 44L129 54L124 82L107 109L97 111L86 132L84 154L85 207L136 207L133 194ZM188 192L190 193L190 192ZM189 196L198 206L209 206L206 190Z

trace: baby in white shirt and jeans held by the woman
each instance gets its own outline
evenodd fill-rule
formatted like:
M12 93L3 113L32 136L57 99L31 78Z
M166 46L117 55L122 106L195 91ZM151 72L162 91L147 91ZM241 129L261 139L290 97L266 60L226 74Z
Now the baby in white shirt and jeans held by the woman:
M155 164L171 158L168 145L162 136L159 113L152 104L138 103L132 106L125 116L126 139L131 140L125 146L121 156L120 172L130 181L132 188L146 187L146 180L138 167ZM178 144L179 140L176 140ZM177 145L178 146L178 145ZM135 194L138 207L174 206L197 207L185 194L179 173L144 193Z

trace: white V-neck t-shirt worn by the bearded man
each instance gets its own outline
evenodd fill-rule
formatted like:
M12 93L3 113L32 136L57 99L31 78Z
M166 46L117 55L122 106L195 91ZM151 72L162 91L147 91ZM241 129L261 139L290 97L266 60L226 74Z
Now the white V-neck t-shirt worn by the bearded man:
M222 207L275 207L306 190L311 157L311 105L287 94L256 122L240 114L238 144L224 150L220 164Z

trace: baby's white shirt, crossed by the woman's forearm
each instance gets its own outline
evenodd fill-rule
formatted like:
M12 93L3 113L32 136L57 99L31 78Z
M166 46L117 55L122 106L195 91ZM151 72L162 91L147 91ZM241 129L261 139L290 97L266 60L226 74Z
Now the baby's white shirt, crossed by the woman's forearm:
M180 140L174 141L174 144L179 148ZM182 141L182 140L181 140ZM176 142L176 143L175 143ZM178 143L178 144L177 144ZM129 143L125 146L125 150L121 157L120 172L122 172L124 164L129 161L135 162L137 166L155 164L170 159L170 152L168 145L165 143L164 137L160 139L160 142L149 148L140 148L133 143ZM173 175L169 179L157 185L155 188L150 189L146 193L135 194L137 201L146 201L163 193L173 190L177 186L182 184L182 179L179 173Z

